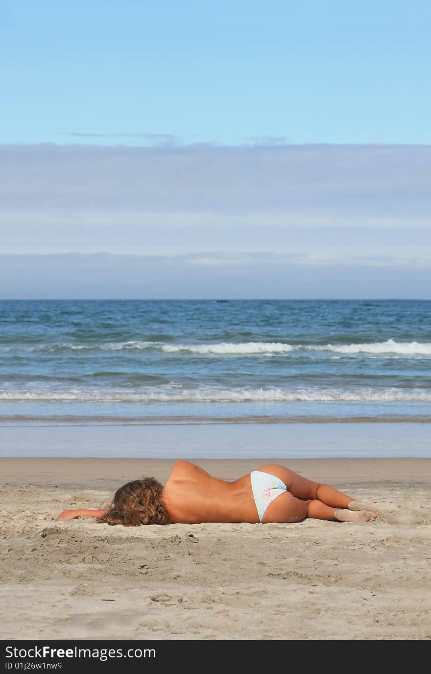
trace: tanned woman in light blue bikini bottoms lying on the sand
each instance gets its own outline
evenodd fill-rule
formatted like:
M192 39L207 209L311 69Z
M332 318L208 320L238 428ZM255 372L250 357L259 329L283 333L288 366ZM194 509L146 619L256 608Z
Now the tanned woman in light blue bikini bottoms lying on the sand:
M380 513L329 485L277 464L226 482L188 461L177 461L164 487L154 477L124 485L107 510L63 510L58 520L81 516L106 524L198 524L199 522L299 522L306 517L368 522Z

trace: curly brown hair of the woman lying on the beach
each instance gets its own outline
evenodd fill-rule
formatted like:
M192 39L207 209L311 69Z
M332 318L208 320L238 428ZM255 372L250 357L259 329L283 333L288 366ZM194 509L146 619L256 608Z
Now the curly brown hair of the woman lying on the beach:
M163 487L154 477L144 477L123 485L114 494L106 515L98 518L100 524L169 524L170 516L163 502Z

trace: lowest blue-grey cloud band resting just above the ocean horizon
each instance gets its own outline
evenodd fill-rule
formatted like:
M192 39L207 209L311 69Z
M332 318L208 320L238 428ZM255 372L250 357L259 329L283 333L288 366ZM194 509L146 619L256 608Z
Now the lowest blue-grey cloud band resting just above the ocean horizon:
M0 255L0 299L429 299L431 257Z

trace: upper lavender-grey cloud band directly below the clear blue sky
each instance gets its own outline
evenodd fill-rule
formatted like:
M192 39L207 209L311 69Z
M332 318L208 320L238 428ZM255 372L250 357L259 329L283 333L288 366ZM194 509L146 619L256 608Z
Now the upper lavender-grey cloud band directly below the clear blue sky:
M431 146L0 146L5 210L429 215Z

